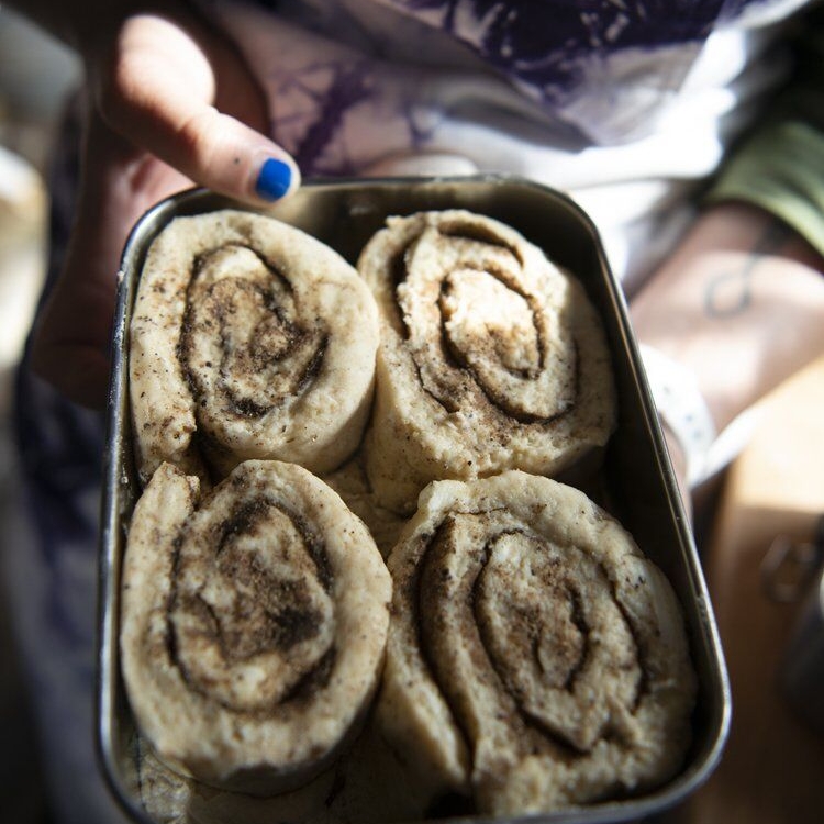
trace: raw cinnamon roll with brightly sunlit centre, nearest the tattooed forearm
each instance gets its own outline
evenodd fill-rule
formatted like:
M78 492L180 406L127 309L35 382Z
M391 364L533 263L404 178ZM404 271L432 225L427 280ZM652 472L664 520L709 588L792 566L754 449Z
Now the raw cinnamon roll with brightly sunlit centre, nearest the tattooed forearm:
M381 314L366 467L411 512L431 480L556 475L615 424L606 342L581 283L463 210L389 219L358 270Z

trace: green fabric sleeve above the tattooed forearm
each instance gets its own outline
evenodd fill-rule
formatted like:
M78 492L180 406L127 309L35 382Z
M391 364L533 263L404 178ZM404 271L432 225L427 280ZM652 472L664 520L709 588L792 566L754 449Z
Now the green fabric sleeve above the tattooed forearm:
M824 254L824 13L803 15L797 71L769 115L733 152L708 203L766 209Z

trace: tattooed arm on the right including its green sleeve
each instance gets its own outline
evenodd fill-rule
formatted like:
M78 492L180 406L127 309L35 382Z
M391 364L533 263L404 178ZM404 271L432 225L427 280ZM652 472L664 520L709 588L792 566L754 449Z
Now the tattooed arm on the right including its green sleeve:
M680 438L683 445L692 438L692 455L704 448L697 447L699 442L712 437L690 372L721 431L824 352L820 7L798 19L797 34L789 83L727 159L692 232L632 307L639 339L689 370L684 376L665 361L659 368L671 375L656 379L664 381L657 388L662 409L671 405L668 399L676 391L665 394L668 380L687 392L678 393L690 405L662 412L665 430L683 430L670 433L676 464L684 457ZM692 455L692 460L701 466L703 458Z

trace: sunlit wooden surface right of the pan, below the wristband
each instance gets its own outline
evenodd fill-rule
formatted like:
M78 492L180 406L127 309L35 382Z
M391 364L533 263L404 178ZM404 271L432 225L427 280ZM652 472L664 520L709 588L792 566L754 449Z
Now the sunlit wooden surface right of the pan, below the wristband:
M777 535L810 542L822 514L824 357L765 404L755 439L721 493L704 558L730 669L733 723L717 770L673 819L824 822L824 735L793 715L778 686L799 609L767 598L760 575Z

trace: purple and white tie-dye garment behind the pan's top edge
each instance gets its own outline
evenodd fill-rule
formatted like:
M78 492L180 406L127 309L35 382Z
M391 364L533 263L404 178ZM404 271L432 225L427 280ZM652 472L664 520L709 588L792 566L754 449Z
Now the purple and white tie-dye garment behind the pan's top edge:
M803 0L200 0L305 176L510 172L563 189L627 288L782 77ZM444 157L452 160L438 165ZM621 204L616 209L616 204Z

